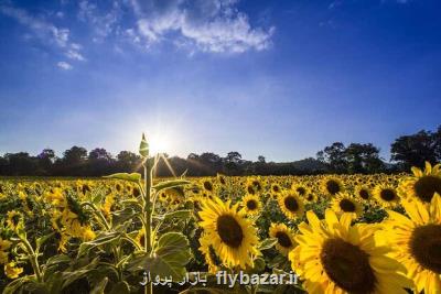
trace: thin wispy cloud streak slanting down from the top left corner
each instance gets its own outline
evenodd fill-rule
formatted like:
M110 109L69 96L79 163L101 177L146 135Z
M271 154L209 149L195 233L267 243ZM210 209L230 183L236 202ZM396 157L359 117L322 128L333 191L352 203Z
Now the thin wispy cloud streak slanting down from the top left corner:
M15 19L32 32L31 36L60 48L66 57L76 61L86 59L80 53L82 46L71 42L69 29L58 28L45 19L33 17L28 11L12 6L0 6L0 13Z

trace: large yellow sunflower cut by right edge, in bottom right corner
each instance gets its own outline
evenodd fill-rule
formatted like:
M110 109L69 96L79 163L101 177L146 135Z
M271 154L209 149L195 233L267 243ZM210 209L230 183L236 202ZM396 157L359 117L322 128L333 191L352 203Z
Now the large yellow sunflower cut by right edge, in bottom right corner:
M402 206L409 217L387 210L381 240L395 249L391 257L407 268L418 293L441 293L441 197L437 193L429 206L419 200Z

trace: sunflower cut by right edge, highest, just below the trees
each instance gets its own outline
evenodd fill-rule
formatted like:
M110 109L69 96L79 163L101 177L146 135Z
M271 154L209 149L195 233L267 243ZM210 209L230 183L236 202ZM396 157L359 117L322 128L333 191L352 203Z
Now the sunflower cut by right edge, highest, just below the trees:
M433 195L441 195L441 164L431 166L426 162L426 170L412 167L413 176L405 177L398 186L401 198L416 198L421 203L430 204Z

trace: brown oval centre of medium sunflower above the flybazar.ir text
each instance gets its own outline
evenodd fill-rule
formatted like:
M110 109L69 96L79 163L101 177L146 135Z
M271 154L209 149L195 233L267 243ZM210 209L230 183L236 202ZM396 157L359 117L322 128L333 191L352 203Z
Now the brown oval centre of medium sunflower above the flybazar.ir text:
M217 218L217 233L224 243L233 248L238 248L244 240L244 231L239 222L232 216Z

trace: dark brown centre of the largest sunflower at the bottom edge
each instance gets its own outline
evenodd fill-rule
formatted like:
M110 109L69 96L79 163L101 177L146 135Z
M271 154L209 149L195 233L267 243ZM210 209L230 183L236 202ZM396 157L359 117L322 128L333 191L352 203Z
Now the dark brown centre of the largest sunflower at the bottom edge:
M327 276L349 293L372 293L375 274L366 252L342 239L327 239L320 259Z

